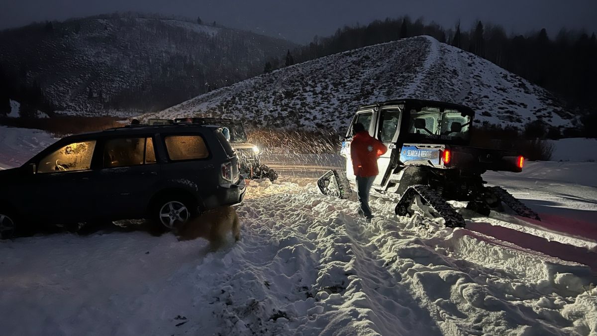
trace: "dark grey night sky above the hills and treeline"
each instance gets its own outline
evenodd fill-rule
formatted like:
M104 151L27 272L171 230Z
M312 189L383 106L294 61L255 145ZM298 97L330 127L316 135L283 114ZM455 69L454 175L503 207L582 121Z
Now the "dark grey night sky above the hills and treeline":
M0 0L0 29L115 11L200 16L204 22L295 42L331 35L343 25L404 14L445 27L460 19L466 29L481 19L508 33L547 28L555 36L564 26L597 32L597 0Z

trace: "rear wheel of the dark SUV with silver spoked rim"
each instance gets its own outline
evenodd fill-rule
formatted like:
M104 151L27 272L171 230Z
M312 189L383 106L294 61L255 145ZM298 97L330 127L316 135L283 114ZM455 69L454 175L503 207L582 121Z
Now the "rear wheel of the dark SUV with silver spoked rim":
M155 228L171 231L186 223L197 214L195 202L188 197L162 196L150 209L150 220Z

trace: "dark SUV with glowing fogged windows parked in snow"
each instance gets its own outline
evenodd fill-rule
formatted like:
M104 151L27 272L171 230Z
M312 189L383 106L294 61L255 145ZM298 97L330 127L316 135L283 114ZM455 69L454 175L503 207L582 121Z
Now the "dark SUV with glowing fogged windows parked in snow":
M0 171L0 237L39 224L148 218L163 228L238 204L239 159L220 127L126 126L68 136Z

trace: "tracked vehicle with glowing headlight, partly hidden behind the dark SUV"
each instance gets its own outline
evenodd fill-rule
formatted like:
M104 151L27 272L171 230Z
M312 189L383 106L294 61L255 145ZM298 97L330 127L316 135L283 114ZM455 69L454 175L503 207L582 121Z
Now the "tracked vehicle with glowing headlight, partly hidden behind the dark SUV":
M247 141L247 133L242 123L229 118L210 118L210 117L193 117L193 118L176 118L174 120L168 119L150 119L149 124L181 124L193 123L202 125L216 125L223 127L226 139L232 145L241 163L241 175L250 179L267 178L270 181L278 179L278 173L262 164L260 160L261 149Z

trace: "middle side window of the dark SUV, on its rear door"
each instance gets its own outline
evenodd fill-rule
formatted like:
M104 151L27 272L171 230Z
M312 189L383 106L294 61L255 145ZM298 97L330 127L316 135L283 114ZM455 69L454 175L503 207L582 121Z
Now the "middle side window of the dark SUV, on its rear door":
M128 167L156 163L152 138L119 138L104 145L103 167Z

